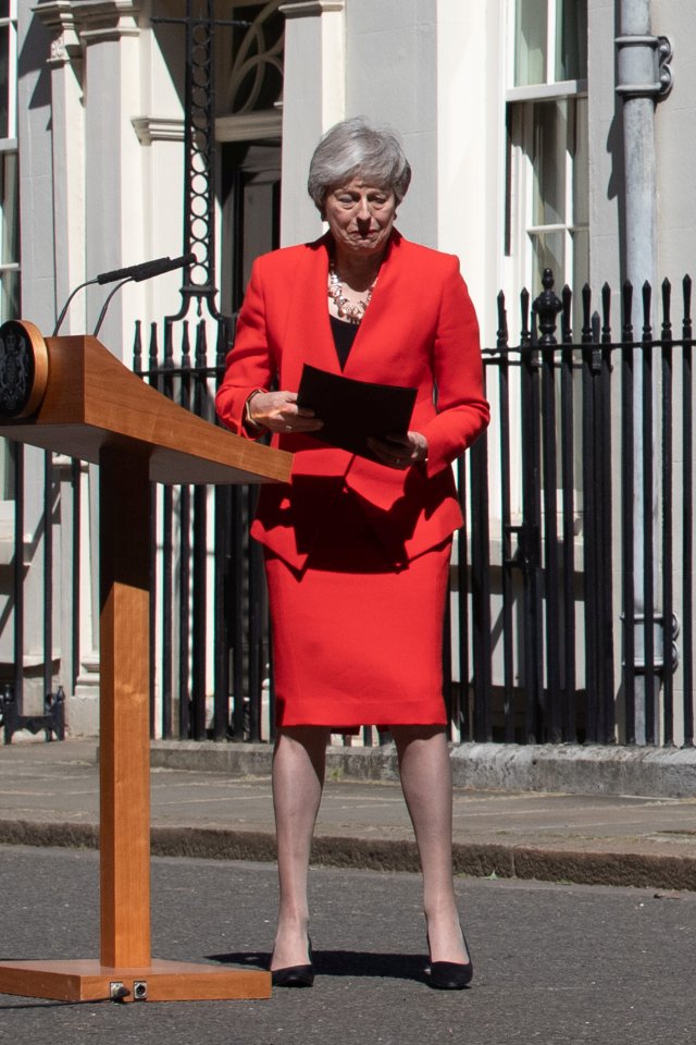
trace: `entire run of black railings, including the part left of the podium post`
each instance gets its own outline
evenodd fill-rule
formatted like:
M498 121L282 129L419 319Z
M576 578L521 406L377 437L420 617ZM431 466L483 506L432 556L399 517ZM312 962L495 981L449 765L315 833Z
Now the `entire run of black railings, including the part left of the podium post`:
M547 271L534 302L521 295L519 336L499 296L496 345L484 351L492 426L456 465L465 524L444 646L452 738L693 746L691 294L686 278L674 330L668 282L656 327L649 286L637 303L630 285L605 286L595 309L588 287L579 302L567 287L558 297ZM172 318L147 339L138 327L134 369L214 420L232 339L232 321L210 315ZM47 736L62 736L59 687L70 716L91 610L80 604L86 472L35 451L27 466L18 446L13 462L5 740L23 715L37 728L51 715ZM153 488L153 735L273 735L262 558L248 536L256 496L253 487ZM45 706L25 715L27 681Z

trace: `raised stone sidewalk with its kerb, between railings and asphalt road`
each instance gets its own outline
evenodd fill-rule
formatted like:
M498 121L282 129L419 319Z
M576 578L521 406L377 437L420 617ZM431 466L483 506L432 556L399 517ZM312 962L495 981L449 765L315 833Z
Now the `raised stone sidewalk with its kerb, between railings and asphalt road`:
M166 748L166 746L164 746ZM152 853L272 862L270 752L237 748L236 771L213 760L152 750ZM170 746L171 748L171 746ZM315 866L418 871L401 791L393 779L352 779L331 769ZM95 740L0 748L0 844L96 848L99 765ZM696 892L696 798L569 795L455 788L458 874Z

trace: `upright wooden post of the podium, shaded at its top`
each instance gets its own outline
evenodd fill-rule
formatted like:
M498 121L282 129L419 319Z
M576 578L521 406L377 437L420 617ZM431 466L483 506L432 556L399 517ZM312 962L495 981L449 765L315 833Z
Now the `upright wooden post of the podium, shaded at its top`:
M150 963L150 480L144 457L99 464L101 962Z

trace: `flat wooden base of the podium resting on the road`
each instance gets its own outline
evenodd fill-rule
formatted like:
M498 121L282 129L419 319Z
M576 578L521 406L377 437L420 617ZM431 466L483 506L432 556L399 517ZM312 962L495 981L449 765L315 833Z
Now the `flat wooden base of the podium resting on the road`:
M120 996L123 987L127 994ZM0 994L57 1001L224 1001L270 998L271 973L186 961L111 968L99 961L1 961Z

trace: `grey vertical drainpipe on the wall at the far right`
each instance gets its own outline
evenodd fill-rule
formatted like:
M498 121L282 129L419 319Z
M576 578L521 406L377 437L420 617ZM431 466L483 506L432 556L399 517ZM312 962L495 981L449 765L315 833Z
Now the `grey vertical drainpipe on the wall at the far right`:
M671 46L667 37L650 32L650 0L619 0L621 35L618 50L617 94L623 100L623 143L625 164L625 275L634 287L634 300L642 302L642 287L647 281L656 287L657 276L657 186L655 150L655 107L672 85L669 66ZM651 320L651 324L655 325ZM634 327L636 324L634 323ZM645 542L646 497L652 500L657 516L655 489L645 490L645 440L655 445L655 432L644 430L643 420L643 351L634 352L633 366L633 590L635 636L635 742L657 739L657 723L646 721L645 678ZM652 416L657 413L654 410ZM651 555L655 561L655 556ZM625 607L627 610L627 607ZM625 610L624 610L625 612ZM652 612L650 607L650 612ZM624 622L624 627L626 622ZM655 636L655 659L662 655L661 635ZM657 708L657 701L655 702Z

